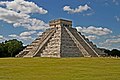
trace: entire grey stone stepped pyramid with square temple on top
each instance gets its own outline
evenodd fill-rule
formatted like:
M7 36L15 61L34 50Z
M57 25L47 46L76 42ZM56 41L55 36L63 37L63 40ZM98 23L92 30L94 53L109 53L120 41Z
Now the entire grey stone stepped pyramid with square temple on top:
M75 28L72 21L57 19L16 57L99 57L104 53Z

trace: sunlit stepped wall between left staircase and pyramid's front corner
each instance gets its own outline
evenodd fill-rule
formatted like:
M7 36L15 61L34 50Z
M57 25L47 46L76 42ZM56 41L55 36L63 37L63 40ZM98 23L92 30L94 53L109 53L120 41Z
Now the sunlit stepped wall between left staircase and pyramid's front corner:
M56 29L51 39L49 39L45 49L41 53L41 57L60 57L61 32L59 29Z

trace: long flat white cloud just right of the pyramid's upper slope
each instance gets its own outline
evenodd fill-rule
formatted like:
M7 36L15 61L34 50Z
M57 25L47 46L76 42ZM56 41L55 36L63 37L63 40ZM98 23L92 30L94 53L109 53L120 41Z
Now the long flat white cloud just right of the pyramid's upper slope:
M112 33L112 31L108 28L102 28L102 27L94 27L94 26L89 26L89 27L76 27L77 31L82 32L82 33L87 33L87 34L95 34L98 36L102 35L107 35Z

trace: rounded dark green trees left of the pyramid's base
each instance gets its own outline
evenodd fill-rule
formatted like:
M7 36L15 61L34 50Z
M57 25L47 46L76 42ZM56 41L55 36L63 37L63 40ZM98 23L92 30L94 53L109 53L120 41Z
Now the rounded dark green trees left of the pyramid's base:
M0 57L14 57L23 49L23 43L17 39L0 43Z

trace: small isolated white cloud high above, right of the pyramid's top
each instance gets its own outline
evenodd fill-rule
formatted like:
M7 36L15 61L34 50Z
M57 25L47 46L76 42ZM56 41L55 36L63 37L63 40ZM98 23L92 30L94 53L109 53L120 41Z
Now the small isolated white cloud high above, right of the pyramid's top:
M78 8L72 9L70 6L64 6L63 10L67 11L68 13L81 13L83 11L87 11L91 9L87 4L84 6L78 6Z

